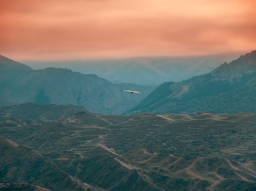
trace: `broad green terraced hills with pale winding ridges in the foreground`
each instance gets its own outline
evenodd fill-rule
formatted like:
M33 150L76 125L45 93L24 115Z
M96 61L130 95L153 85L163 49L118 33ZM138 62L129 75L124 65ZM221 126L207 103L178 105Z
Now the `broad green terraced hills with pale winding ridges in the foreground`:
M256 114L78 112L46 123L5 118L0 135L38 151L90 189L256 188Z

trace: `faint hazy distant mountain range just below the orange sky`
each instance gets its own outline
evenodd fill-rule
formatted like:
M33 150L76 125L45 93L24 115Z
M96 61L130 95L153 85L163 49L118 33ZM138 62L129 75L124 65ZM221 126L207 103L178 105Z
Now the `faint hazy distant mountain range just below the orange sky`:
M166 81L183 81L210 72L241 53L186 57L135 57L74 61L22 61L33 69L69 68L82 74L96 74L112 83L159 86Z

